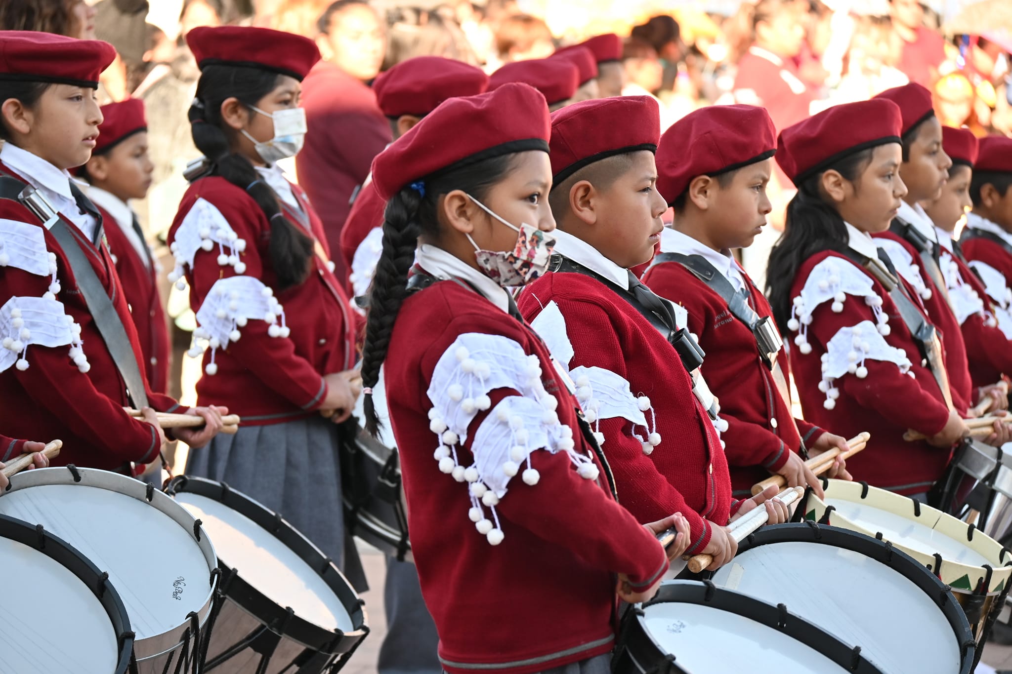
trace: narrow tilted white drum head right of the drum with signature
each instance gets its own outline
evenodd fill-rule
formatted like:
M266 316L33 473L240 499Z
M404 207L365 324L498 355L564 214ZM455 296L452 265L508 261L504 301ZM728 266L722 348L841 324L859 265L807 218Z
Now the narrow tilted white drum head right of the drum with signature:
M344 604L317 571L265 528L206 496L181 491L175 499L203 522L222 563L271 601L290 606L296 615L324 630L355 630Z

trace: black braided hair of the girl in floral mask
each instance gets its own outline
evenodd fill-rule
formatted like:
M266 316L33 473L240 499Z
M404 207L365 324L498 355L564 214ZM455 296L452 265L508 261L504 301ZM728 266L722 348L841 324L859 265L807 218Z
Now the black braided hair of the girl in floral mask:
M362 386L371 388L380 381L380 366L387 358L394 323L408 295L408 271L415 261L418 237L438 237L437 207L442 195L462 190L481 201L489 190L509 173L516 155L499 155L474 164L439 171L423 178L425 195L405 186L387 203L383 224L383 253L376 263L369 290L369 309L362 347ZM363 400L365 430L375 436L380 429L372 396Z

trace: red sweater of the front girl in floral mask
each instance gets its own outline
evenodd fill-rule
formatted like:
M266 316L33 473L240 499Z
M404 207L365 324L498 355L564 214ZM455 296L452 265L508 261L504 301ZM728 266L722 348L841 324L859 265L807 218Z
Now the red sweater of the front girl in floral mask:
M439 658L451 674L476 669L525 674L607 654L613 645L614 577L649 586L667 569L654 537L611 497L606 471L579 477L564 453L531 455L540 481L514 477L496 506L503 542L490 546L468 517L467 483L440 472L426 391L439 359L470 332L502 335L536 356L545 390L559 401L575 450L593 454L578 427L578 404L555 377L551 356L526 325L454 282L436 283L401 308L387 355L385 382L408 500L411 545L425 604L439 633ZM490 394L492 407L513 388ZM470 422L471 444L490 412ZM603 468L600 463L598 468ZM487 510L486 510L487 512ZM669 513L670 514L670 513ZM551 610L544 610L551 606Z

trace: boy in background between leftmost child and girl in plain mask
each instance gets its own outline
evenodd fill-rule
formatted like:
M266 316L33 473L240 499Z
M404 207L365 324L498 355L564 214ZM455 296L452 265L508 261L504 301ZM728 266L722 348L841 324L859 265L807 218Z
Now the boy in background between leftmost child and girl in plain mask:
M91 160L79 176L88 181L88 197L102 214L105 239L122 282L141 342L148 383L166 393L172 353L169 327L158 289L159 265L151 252L131 199L143 199L155 170L148 157L144 101L131 98L103 105L104 121Z

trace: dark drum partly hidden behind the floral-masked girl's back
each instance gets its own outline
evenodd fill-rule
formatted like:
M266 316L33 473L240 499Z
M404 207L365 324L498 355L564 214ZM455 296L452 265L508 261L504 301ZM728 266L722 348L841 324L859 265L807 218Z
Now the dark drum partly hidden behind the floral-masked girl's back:
M364 419L365 396L358 396L354 418ZM342 434L341 492L348 532L401 561L413 561L408 541L408 506L401 485L397 443L387 411L384 373L372 387L372 405L382 421L372 438L357 423Z

